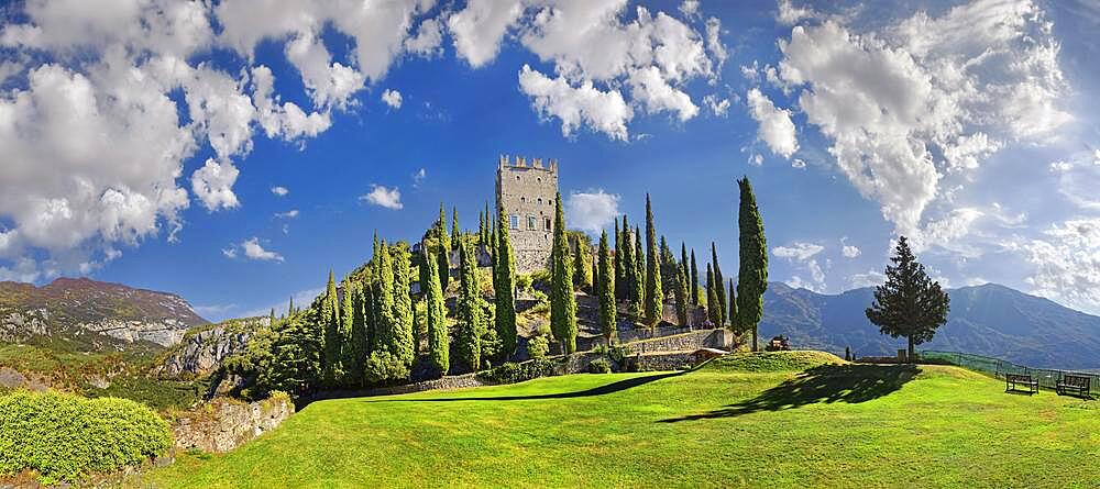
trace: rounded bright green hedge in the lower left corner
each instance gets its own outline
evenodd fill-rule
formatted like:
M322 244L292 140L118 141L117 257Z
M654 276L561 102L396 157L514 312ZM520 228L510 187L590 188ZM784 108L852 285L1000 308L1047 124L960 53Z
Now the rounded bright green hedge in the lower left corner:
M168 423L138 402L18 390L0 396L0 476L35 470L40 482L118 470L166 452Z

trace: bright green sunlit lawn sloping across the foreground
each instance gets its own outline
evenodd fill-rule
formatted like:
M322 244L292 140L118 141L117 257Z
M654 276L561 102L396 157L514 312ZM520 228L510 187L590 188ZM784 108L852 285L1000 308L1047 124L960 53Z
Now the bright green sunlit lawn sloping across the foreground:
M1100 401L1004 393L955 367L814 366L829 359L321 401L232 453L180 455L133 482L1100 487Z

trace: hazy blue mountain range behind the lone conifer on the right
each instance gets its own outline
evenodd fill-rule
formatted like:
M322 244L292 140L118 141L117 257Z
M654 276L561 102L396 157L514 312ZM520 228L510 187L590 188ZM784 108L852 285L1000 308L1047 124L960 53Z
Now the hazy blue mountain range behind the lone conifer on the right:
M947 324L921 349L945 349L1003 358L1049 368L1100 368L1100 316L1086 314L1041 297L988 284L949 289ZM760 336L791 337L800 348L860 356L894 355L903 338L879 333L864 310L873 289L835 296L771 282L765 293Z

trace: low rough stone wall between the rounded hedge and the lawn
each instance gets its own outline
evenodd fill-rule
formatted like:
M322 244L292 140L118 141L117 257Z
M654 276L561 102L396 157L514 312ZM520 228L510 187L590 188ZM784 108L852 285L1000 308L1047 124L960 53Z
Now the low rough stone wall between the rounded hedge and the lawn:
M216 399L180 415L172 426L178 449L229 452L274 430L294 414L289 398L243 403Z

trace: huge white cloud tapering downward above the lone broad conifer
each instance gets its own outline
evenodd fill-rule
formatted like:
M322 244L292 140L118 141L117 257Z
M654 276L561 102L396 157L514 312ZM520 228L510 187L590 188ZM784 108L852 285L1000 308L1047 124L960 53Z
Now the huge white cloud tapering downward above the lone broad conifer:
M780 20L812 14L800 10L783 2ZM917 229L945 171L972 171L1007 142L1048 141L1071 120L1058 107L1058 42L1028 0L922 11L869 32L844 22L795 26L778 77L899 232Z

